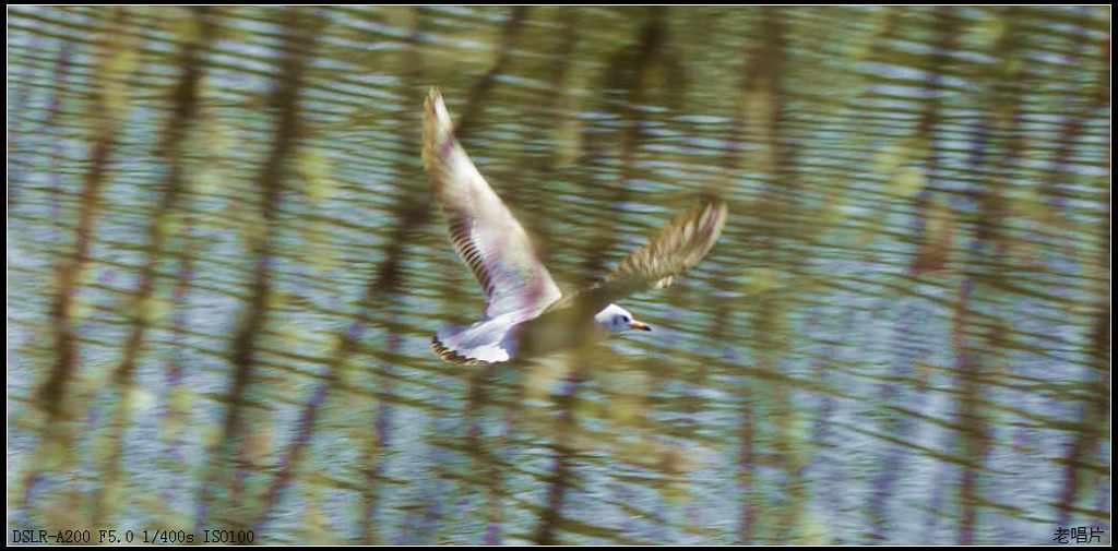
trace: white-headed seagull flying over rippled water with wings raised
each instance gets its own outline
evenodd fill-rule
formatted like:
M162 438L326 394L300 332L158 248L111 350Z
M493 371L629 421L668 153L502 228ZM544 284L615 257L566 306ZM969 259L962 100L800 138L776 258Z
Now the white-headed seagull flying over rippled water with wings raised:
M671 285L674 276L707 256L726 224L726 202L703 197L606 277L565 294L524 228L454 136L451 114L435 87L424 102L423 163L447 220L451 244L485 293L480 321L444 326L432 339L432 350L456 364L531 359L613 333L652 331L614 301Z

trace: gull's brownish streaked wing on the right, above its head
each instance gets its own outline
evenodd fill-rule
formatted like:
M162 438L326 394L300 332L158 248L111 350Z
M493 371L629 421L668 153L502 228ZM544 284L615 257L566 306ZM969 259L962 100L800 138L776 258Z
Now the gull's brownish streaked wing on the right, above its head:
M593 314L633 293L671 285L673 276L707 256L722 234L726 217L724 201L703 198L625 257L603 281L565 297L552 308L575 307Z

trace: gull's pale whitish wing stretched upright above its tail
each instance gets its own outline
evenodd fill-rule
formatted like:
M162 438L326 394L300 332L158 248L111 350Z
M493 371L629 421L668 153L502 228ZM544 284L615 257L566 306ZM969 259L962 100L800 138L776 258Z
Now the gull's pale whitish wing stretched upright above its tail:
M449 222L451 243L485 292L485 316L532 317L561 296L524 228L454 136L437 88L424 102L423 162Z

